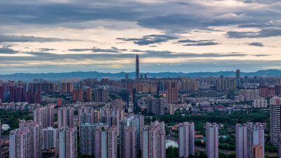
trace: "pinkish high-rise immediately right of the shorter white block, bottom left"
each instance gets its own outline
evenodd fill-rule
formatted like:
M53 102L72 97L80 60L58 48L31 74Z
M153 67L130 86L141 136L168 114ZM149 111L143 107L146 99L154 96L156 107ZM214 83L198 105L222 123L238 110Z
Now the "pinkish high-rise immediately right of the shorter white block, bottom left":
M59 129L59 158L77 157L77 127L62 126Z

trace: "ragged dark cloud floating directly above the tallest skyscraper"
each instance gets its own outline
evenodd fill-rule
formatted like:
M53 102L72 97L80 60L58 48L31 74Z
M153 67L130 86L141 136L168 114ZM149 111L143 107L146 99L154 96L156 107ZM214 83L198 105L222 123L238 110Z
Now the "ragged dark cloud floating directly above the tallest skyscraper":
M144 46L144 45L149 45L149 44L159 44L165 41L169 41L171 39L178 39L177 37L172 37L166 34L150 34L143 36L141 39L137 38L117 38L122 41L133 41L134 44L138 44L138 46Z

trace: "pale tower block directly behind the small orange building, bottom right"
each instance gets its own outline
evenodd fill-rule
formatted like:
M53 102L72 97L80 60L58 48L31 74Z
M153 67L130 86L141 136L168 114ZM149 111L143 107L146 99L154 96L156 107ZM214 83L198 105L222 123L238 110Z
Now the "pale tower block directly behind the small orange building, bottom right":
M254 145L261 145L262 157L264 158L264 127L261 123L257 122L253 124L251 122L247 123L247 157L254 157L256 148ZM260 148L260 147L259 147Z

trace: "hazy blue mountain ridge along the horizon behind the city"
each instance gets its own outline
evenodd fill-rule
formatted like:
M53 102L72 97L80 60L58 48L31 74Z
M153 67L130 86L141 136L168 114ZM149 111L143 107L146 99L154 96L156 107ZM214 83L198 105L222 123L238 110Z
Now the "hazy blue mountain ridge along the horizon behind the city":
M103 73L103 72L58 72L58 73L15 73L15 74L0 74L0 79L15 79L15 80L33 80L33 79L46 79L49 81L58 79L101 79L102 77L109 77L110 79L124 79L125 74L129 74L129 78L134 79L135 72L118 72L118 73ZM141 73L145 74L145 73ZM235 77L235 71L221 71L221 72L148 72L148 77ZM281 76L281 70L259 70L257 72L241 72L241 76Z

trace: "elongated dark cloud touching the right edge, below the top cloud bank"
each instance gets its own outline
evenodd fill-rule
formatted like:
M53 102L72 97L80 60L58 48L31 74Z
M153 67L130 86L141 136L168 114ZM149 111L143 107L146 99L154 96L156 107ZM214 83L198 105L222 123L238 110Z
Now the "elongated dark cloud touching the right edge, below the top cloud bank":
M232 39L242 38L265 38L265 37L280 37L281 29L279 28L268 28L261 29L259 32L227 32L226 37Z

